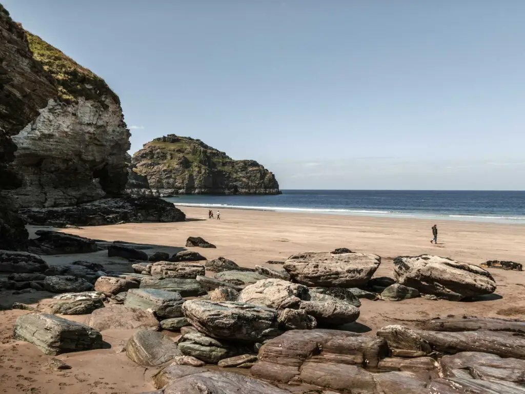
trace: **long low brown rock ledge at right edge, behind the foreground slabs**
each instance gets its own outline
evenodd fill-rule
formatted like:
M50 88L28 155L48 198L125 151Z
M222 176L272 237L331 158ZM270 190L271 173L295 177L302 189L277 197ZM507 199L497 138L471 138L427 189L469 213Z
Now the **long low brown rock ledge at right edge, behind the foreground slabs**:
M422 329L429 331L489 330L525 334L525 321L490 317L447 317L427 320L423 324Z

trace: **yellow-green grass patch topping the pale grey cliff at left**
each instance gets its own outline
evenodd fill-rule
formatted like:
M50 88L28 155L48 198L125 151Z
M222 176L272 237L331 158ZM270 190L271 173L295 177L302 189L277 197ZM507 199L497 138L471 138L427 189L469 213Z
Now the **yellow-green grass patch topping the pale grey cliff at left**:
M55 79L60 99L66 102L76 102L77 97L86 97L101 101L101 95L107 94L120 103L118 96L106 82L91 70L80 66L75 60L40 37L27 31L26 36L29 49L33 52L33 58L39 61Z

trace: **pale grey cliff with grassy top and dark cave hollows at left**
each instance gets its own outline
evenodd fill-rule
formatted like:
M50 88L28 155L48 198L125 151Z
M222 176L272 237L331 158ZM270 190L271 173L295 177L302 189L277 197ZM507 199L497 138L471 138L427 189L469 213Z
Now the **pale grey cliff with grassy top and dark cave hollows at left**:
M121 194L130 133L119 98L90 70L39 37L25 35L31 60L51 76L56 90L35 119L20 122L22 130L13 137L18 150L11 168L22 184L10 195L24 208Z

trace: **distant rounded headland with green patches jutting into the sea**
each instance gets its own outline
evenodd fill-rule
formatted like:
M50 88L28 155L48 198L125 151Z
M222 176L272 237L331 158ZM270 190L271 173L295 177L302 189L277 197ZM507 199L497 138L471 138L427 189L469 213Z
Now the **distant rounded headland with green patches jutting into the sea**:
M132 195L280 193L275 175L256 161L233 160L201 140L175 134L144 144L128 171Z

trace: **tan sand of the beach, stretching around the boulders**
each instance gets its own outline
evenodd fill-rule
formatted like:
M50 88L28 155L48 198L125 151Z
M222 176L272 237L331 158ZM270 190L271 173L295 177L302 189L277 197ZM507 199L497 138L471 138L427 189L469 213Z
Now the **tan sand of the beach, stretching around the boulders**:
M92 239L127 241L156 245L151 250L174 253L184 247L188 236L202 236L216 249L199 250L208 258L228 257L241 266L253 267L268 260L284 261L293 253L328 251L348 247L352 251L375 253L382 264L375 276L392 276L392 259L398 255L424 253L451 257L479 264L487 260L511 260L525 263L523 233L525 226L456 221L429 222L415 219L295 214L260 211L222 210L221 220L207 220L207 209L183 208L185 223L122 224L66 232ZM438 245L430 244L430 227L438 225ZM35 229L32 229L35 230ZM49 264L68 264L75 260L97 261L112 271L131 269L120 258L108 258L106 252L82 255L44 256ZM490 269L498 284L496 295L470 303L430 301L423 298L403 302L362 300L359 324L352 329L374 335L387 324L417 324L411 320L472 315L516 317L525 315L525 272ZM35 303L51 294L12 295L0 292L0 305L13 302ZM153 389L151 375L155 368L141 368L121 352L132 331L103 331L111 349L65 354L57 358L72 369L53 371L46 365L52 358L33 345L12 338L16 318L22 310L0 312L0 392L121 394ZM68 317L83 322L85 316ZM401 319L401 321L400 321ZM406 321L403 321L406 320Z

